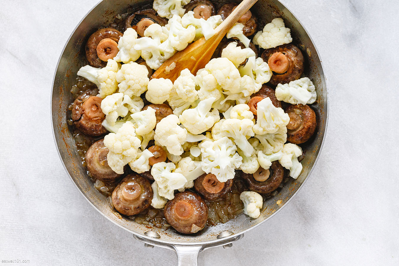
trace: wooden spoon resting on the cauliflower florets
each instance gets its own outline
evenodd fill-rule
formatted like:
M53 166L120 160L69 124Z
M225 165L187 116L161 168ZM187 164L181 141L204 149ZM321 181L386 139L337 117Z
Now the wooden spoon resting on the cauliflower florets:
M170 79L174 82L180 75L180 71L183 69L190 69L191 73L196 75L197 71L211 60L213 53L216 50L217 45L223 39L224 35L230 30L230 28L247 12L257 0L243 0L237 8L231 12L231 14L216 27L216 33L209 39L205 40L204 37L198 39L194 43L188 45L186 49L179 51L168 60L166 60L155 72L151 78L159 79ZM175 67L172 68L170 65L175 63Z

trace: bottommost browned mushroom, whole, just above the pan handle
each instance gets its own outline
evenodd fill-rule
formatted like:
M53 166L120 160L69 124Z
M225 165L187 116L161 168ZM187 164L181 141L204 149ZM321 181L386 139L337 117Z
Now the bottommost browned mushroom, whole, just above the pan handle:
M164 215L176 231L194 234L205 227L208 207L198 194L184 191L177 193L174 199L166 203Z

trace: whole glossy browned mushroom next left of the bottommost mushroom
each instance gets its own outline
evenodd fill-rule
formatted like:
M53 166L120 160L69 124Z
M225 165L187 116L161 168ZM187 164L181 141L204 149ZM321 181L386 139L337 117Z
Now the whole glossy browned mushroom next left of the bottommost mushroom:
M112 203L120 213L135 215L150 207L152 200L150 181L133 173L127 175L115 187L112 193Z

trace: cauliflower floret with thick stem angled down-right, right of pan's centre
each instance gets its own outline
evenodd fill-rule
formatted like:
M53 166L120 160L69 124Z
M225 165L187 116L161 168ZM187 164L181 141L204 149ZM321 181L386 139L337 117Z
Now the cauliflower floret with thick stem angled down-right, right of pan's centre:
M221 135L232 138L235 145L243 151L245 156L251 156L255 150L249 144L247 138L253 137L255 134L252 130L253 121L250 119L239 120L237 118L230 118L223 121L220 130Z

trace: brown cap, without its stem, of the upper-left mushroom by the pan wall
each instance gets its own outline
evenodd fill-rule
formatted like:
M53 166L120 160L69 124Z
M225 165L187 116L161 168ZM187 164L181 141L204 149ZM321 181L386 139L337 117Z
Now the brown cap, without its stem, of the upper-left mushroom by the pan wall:
M107 62L102 61L97 56L97 45L103 39L112 39L113 41L118 42L120 37L122 37L122 33L119 30L115 30L113 28L105 28L100 29L91 34L89 40L86 43L86 58L89 61L89 64L92 67L105 67Z

